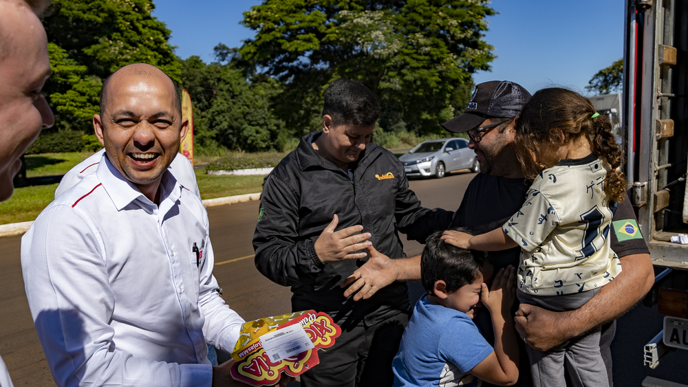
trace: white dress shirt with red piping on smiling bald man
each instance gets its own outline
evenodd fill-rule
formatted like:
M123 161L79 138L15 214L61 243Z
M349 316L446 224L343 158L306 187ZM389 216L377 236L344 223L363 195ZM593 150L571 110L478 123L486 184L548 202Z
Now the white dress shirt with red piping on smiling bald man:
M227 352L237 342L244 320L215 291L202 202L169 170L160 189L156 206L103 156L23 236L29 307L58 386L211 386L206 341Z

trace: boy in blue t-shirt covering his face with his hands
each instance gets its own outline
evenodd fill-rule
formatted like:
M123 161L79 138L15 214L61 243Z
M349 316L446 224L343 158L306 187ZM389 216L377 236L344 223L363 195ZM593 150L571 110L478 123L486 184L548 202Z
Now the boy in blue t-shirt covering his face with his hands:
M519 359L510 315L515 268L499 270L488 291L485 254L447 245L440 236L442 231L429 236L422 252L420 277L427 294L416 303L392 362L394 386L478 386L476 378L515 384ZM471 320L480 302L492 316L494 350Z

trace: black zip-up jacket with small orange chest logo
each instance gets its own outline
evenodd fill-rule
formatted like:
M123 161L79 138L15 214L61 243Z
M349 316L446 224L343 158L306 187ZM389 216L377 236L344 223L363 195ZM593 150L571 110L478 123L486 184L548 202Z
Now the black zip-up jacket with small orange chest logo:
M361 320L376 324L409 309L406 283L393 283L368 300L347 300L339 285L368 258L325 265L314 243L337 214L336 230L363 225L379 252L400 258L397 231L411 231L414 222L420 226L419 219L431 210L420 206L394 154L368 144L350 164L352 180L313 149L308 140L319 134L302 137L266 180L253 235L255 264L273 282L291 287L293 311L324 311L345 326ZM451 219L453 212L440 211Z

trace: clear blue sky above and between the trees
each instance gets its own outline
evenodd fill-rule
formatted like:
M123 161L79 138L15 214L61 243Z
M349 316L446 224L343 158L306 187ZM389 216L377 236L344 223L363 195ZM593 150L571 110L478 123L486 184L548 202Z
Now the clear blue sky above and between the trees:
M260 0L158 0L155 16L172 30L182 58L213 60L213 47L238 47L253 36L241 13ZM592 76L623 56L623 0L493 0L486 41L495 46L492 71L476 83L513 80L531 93L552 85L585 93Z

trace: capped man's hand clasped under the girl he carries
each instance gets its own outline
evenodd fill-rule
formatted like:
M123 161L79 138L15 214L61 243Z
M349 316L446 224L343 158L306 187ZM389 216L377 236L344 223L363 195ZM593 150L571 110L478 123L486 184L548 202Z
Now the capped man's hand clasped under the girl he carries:
M514 323L522 339L541 352L572 338L568 329L568 312L555 312L530 304L519 305Z

